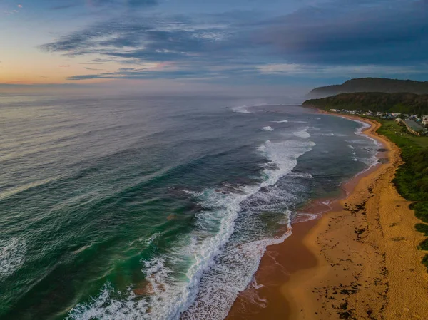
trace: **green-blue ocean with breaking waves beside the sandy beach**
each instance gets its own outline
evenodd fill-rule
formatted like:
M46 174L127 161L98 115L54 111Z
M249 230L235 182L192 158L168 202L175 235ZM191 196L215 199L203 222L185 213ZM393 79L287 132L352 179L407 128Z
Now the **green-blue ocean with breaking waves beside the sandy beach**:
M224 319L363 123L269 99L0 99L0 319Z

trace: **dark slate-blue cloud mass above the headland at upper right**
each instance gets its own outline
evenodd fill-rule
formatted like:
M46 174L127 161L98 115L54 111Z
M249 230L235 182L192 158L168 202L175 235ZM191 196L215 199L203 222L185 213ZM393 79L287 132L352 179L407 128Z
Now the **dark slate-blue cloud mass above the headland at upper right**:
M260 46L272 46L275 52L298 62L426 62L427 12L427 1L330 4L275 19L257 37Z

